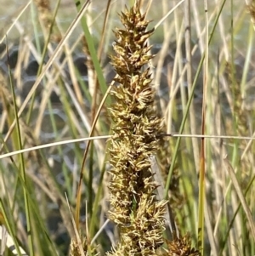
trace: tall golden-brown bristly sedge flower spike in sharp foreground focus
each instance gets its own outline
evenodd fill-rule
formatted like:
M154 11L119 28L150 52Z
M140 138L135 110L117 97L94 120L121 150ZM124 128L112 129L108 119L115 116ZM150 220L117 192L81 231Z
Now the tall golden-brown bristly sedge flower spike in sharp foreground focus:
M111 139L112 219L120 228L121 242L111 255L156 255L163 243L165 201L157 202L156 182L150 156L156 154L161 120L154 109L150 69L153 57L146 40L150 21L139 4L120 15L124 29L115 31L116 55L111 56L118 86L112 92L115 104L110 112L114 122Z

